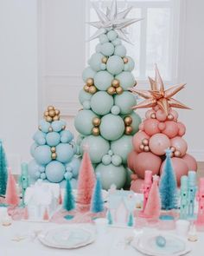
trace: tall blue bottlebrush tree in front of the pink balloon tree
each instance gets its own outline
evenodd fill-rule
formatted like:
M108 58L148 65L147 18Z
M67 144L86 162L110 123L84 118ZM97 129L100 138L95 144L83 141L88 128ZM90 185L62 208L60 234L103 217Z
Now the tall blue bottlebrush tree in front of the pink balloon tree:
M177 208L177 186L175 172L171 163L171 150L166 150L166 160L163 167L163 173L159 182L159 192L162 201L163 210Z

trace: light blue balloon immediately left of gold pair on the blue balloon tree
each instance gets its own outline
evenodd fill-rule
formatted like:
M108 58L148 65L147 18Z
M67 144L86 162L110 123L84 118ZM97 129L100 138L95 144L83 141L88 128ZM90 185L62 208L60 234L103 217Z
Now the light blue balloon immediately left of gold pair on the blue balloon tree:
M52 161L50 147L48 145L43 145L35 148L34 157L39 164L48 164L48 162Z

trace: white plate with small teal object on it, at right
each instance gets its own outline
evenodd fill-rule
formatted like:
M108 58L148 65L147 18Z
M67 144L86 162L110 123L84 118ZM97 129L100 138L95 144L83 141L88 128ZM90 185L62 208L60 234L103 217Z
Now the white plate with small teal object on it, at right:
M188 242L175 234L163 233L166 246L156 246L156 236L161 233L141 233L132 242L131 246L137 251L151 256L179 256L190 251Z

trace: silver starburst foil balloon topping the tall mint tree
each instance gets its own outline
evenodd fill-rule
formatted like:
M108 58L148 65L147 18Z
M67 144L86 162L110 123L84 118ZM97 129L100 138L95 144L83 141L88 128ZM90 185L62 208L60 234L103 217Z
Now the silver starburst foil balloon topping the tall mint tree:
M131 43L125 29L132 23L137 23L138 21L142 20L142 18L126 18L132 7L118 12L117 1L115 0L112 1L111 9L106 9L106 13L104 13L102 10L99 10L95 3L92 3L92 7L99 16L99 22L89 23L98 29L89 39L90 41L104 34L106 30L115 30L118 33L119 38L128 43Z

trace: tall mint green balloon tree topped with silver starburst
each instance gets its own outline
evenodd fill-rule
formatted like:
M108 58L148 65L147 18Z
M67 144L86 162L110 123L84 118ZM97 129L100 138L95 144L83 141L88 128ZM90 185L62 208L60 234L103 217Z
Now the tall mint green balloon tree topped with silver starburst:
M84 146L88 146L102 187L109 189L114 183L121 188L130 180L127 156L132 149L132 135L141 122L131 109L137 102L129 92L137 84L131 73L135 63L126 55L122 40L129 41L124 29L140 19L126 18L131 8L118 12L116 1L106 14L94 4L93 8L99 22L90 23L98 29L91 39L99 37L99 43L82 74L86 83L79 95L83 109L74 125L80 133L80 152L83 154Z

